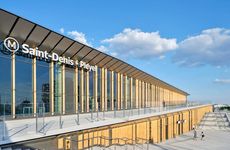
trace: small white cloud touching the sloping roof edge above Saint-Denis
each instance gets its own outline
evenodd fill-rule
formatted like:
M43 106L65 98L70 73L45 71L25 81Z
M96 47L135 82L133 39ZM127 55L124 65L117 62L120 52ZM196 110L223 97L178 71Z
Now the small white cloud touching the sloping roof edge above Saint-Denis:
M91 44L87 41L85 34L82 32L69 31L67 32L67 35L71 36L74 40L78 42L91 46Z

